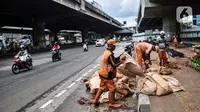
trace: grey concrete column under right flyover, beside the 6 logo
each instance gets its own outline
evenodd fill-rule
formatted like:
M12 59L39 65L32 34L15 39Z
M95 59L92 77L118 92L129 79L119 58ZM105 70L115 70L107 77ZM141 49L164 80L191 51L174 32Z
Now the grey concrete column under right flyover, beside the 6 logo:
M173 36L173 33L177 32L175 15L167 15L163 17L163 30L166 32L167 39L170 39Z

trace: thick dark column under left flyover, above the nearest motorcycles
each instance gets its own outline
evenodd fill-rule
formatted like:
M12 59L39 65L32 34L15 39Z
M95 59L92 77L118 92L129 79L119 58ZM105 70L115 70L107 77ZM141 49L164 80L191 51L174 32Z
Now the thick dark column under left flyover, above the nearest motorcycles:
M45 23L42 20L33 20L33 44L37 48L45 47Z

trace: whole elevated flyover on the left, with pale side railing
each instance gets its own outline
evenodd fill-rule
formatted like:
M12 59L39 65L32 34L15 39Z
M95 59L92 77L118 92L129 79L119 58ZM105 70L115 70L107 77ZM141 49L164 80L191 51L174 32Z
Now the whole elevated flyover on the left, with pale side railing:
M59 30L109 33L122 24L85 0L2 0L0 26L32 27L36 41L44 38L44 28L55 35Z

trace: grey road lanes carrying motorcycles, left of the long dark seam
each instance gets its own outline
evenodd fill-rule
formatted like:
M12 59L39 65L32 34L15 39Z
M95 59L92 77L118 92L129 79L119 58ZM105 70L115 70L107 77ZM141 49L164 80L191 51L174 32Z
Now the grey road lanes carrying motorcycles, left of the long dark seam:
M54 63L51 61L51 52L36 54L33 55L34 69L18 75L11 71L13 59L1 60L0 111L22 111L22 107L32 105L86 68L104 50L105 47L95 46L89 46L88 52L83 52L81 47L63 50L62 60Z

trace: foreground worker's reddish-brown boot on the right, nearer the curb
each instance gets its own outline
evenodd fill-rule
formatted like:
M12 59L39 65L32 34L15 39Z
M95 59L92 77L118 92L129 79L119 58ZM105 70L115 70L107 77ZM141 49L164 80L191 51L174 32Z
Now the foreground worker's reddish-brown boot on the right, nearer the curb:
M109 96L108 96L108 99L109 99L109 106L110 107L113 107L113 108L120 108L122 105L121 104L116 104L115 103L115 93L109 93Z

